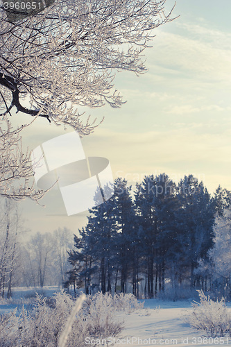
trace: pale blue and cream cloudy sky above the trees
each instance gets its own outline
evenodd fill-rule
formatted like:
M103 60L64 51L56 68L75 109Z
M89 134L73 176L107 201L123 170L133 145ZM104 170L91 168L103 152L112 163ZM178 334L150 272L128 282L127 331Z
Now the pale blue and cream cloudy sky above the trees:
M166 0L166 8L173 3ZM231 189L230 13L230 0L178 0L173 15L180 17L158 28L146 51L148 72L139 78L121 72L115 79L127 103L90 110L105 121L83 138L85 153L108 158L114 178L132 183L144 174L165 172L173 180L194 174L211 193L219 184ZM38 119L24 141L33 149L63 132ZM60 215L53 194L46 209L23 203L28 228L82 226L83 216Z

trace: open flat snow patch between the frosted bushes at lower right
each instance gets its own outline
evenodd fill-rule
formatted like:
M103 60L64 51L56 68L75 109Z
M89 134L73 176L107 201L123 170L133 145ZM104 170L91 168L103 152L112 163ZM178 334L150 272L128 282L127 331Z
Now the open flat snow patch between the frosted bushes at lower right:
M149 309L146 307L150 307ZM155 307L158 307L155 309ZM221 346L231 338L206 338L182 319L192 310L190 301L146 300L144 310L123 316L125 329L113 340L114 346ZM229 309L230 310L230 309Z

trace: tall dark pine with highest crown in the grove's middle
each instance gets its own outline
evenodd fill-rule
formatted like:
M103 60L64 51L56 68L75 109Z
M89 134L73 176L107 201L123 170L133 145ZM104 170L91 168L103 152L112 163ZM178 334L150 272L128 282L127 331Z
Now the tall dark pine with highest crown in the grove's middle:
M146 176L142 184L137 185L135 205L142 237L145 291L147 289L148 297L152 298L157 294L158 285L159 291L164 291L166 255L171 248L176 210L176 185L166 174Z

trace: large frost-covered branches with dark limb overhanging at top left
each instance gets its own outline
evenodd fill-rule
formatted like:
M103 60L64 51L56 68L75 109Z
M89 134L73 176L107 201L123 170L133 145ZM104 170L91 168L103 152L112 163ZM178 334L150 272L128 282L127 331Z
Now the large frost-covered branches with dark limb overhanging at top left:
M151 30L171 20L171 13L163 15L164 2L80 0L76 6L58 0L15 22L0 18L3 114L14 107L91 133L96 124L83 123L78 107L121 106L114 72L146 71L142 53ZM25 95L31 109L22 105Z

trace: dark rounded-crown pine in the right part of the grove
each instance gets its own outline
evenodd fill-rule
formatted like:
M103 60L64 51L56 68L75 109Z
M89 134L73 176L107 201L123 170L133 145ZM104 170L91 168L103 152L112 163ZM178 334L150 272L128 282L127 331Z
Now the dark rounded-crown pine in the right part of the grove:
M180 209L176 217L181 271L188 271L190 266L190 285L195 287L194 269L198 266L198 260L206 257L207 251L212 247L214 211L207 189L192 175L185 176L180 181L178 199Z

